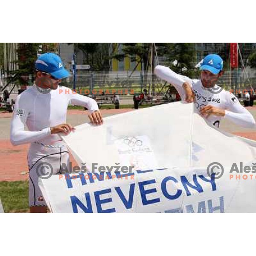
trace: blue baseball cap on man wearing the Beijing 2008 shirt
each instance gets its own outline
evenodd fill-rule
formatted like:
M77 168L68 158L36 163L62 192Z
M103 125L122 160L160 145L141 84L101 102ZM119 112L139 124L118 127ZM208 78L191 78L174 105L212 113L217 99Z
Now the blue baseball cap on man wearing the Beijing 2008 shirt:
M204 58L200 70L208 70L217 75L221 70L223 70L223 60L217 54L209 54Z

